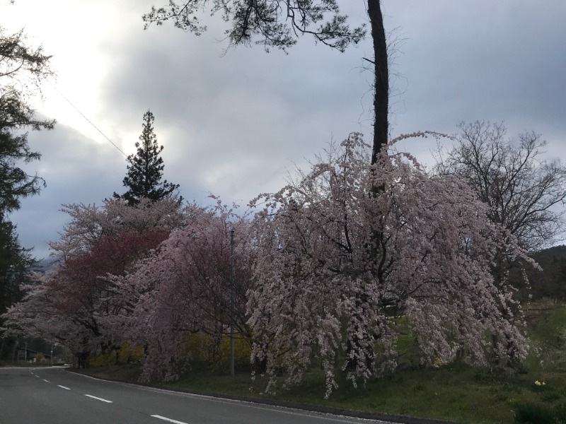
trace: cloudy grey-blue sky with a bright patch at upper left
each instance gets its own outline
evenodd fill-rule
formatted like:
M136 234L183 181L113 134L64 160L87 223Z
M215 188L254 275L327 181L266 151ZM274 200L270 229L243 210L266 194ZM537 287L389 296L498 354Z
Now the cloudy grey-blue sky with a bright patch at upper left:
M8 33L25 28L57 74L33 103L57 125L30 133L42 158L26 166L47 187L11 215L21 245L38 259L69 221L62 204L102 204L125 192L122 152L135 152L146 110L164 146L164 177L200 204L215 194L246 205L280 189L330 141L352 131L371 141L373 75L362 59L372 57L369 37L345 53L308 36L287 54L226 51L220 16L204 13L208 31L199 37L168 23L144 30L141 16L166 2L0 0L0 25ZM368 23L363 0L338 4L352 25ZM391 136L504 122L510 139L536 131L548 141L545 158L566 161L566 1L381 4ZM432 139L401 146L428 165L436 147Z

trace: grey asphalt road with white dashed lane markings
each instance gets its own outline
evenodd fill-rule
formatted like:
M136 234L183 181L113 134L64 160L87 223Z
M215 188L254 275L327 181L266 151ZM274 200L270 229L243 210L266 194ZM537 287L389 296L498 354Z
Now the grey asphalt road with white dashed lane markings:
M67 372L0 368L0 424L387 424L184 394Z

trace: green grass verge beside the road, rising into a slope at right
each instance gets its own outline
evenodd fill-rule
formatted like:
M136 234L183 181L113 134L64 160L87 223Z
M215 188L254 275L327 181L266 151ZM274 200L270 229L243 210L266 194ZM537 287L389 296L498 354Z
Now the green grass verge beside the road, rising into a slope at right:
M247 370L237 370L231 377L227 372L211 370L204 363L193 364L192 369L176 382L154 385L457 423L556 423L554 418L548 418L551 415L547 412L556 411L554 416L558 413L566 416L566 346L562 346L561 341L566 327L566 307L543 307L531 314L529 322L531 354L519 372L456 363L439 368L398 370L368 382L366 387L357 388L340 376L337 379L339 387L328 400L324 399L324 375L318 369L308 372L300 386L279 388L276 394L269 395L262 393L267 377L258 376L252 381ZM134 365L115 365L89 368L84 372L135 382L139 371ZM537 381L541 384L535 384ZM548 420L529 418L536 414L538 417L546 414ZM560 422L566 423L566 420Z

